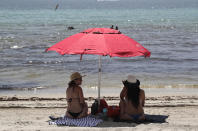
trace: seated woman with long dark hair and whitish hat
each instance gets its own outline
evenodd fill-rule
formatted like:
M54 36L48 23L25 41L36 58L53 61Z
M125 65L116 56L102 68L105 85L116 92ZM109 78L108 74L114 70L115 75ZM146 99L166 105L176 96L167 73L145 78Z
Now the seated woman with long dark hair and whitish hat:
M120 93L120 119L143 121L145 93L139 88L140 81L129 75L123 84L124 87Z

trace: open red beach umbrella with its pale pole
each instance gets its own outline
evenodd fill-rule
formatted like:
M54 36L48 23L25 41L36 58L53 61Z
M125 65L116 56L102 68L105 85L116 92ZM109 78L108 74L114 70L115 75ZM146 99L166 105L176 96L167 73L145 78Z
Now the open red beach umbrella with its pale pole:
M101 56L110 57L150 57L151 53L132 38L119 30L110 28L89 28L65 38L46 49L65 54L99 55L98 98L100 99ZM81 57L82 58L82 57Z

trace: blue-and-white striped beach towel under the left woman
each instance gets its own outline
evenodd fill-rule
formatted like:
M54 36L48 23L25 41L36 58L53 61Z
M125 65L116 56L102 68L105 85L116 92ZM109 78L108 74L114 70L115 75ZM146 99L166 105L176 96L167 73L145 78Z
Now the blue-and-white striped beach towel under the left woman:
M97 126L101 122L103 122L103 120L97 119L91 115L80 118L80 119L72 119L67 116L64 116L64 117L60 117L57 120L49 121L49 125L94 127L94 126Z

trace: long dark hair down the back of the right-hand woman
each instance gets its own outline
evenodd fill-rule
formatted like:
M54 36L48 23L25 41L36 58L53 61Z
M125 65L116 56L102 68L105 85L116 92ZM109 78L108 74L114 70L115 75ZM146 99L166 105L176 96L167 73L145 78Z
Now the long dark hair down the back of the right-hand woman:
M124 86L127 88L127 99L131 101L135 108L139 106L139 95L140 95L140 81L137 80L136 83L130 83L128 81L123 81Z

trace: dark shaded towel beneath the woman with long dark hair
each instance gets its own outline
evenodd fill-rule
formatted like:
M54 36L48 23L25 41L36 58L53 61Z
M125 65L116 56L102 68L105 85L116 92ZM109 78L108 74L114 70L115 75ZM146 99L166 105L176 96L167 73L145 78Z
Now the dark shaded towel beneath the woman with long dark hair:
M150 123L167 123L166 119L168 115L149 115L145 114L145 121L144 122L134 122L134 121L123 121L120 119L115 119L112 121L104 121L103 123L99 124L98 127L136 127L139 124L150 124Z

